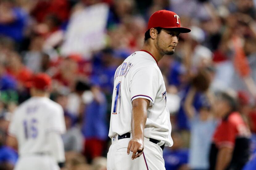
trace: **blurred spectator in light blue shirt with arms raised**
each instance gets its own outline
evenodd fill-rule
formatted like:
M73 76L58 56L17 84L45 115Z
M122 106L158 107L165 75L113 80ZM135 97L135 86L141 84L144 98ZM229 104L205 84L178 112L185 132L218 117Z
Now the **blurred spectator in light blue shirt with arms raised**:
M211 146L211 137L217 122L211 109L214 106L211 106L209 99L205 96L199 112L196 112L196 109L192 105L195 94L196 89L192 87L184 103L191 127L189 166L191 169L207 170L209 168L208 155Z

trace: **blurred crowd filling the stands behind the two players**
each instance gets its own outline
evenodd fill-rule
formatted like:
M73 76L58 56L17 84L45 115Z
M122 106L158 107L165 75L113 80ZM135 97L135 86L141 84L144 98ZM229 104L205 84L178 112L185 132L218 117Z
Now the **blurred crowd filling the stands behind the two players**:
M250 130L253 157L255 0L0 0L0 169L17 161L17 152L6 146L7 128L30 97L33 74L44 72L53 79L51 99L64 109L64 169L105 170L115 70L140 50L148 18L162 9L192 30L180 35L175 54L159 62L174 140L163 151L166 169L209 168L218 120L233 109L223 92ZM97 16L104 12L105 18ZM226 108L231 110L221 114Z

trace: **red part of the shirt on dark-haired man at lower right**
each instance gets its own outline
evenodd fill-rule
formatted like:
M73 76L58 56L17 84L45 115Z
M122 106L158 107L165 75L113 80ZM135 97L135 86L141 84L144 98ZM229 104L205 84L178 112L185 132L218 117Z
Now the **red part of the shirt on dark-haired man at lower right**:
M213 143L216 144L217 148L233 148L237 137L246 137L249 135L250 131L241 115L233 112L227 120L222 120L216 128L213 135Z

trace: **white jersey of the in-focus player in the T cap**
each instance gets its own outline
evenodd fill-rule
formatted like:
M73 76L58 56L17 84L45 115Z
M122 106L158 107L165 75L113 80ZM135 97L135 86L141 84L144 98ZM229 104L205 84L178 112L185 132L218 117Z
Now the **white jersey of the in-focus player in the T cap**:
M145 50L136 51L118 67L114 77L109 137L131 132L132 101L150 101L144 136L172 146L166 88L157 61Z

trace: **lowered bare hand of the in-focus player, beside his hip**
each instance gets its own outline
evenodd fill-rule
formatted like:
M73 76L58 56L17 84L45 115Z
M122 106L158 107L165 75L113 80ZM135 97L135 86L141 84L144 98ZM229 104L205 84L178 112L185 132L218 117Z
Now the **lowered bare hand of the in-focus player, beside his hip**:
M135 138L135 139L130 140L128 147L127 147L127 154L129 155L130 151L133 152L132 160L134 160L142 155L143 149L144 149L143 140Z

